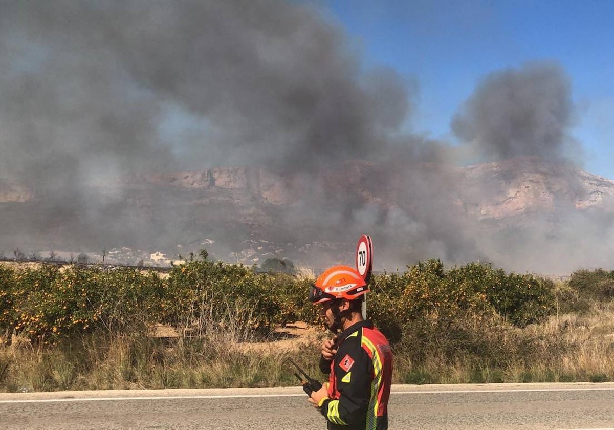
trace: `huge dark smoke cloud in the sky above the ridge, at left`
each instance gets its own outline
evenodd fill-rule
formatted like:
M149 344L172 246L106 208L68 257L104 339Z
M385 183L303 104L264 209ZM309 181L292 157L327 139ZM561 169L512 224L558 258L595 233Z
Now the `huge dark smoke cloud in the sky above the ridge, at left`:
M36 170L38 183L66 184L162 166L363 158L381 151L408 109L394 71L363 79L340 30L288 2L0 7L9 102L0 118L20 157L0 174ZM177 130L176 117L192 133Z

